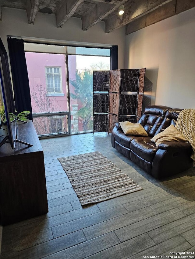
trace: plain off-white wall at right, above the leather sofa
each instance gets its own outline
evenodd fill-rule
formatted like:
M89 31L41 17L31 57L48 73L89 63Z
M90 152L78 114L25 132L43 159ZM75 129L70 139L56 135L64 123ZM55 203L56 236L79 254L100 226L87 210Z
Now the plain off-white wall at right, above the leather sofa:
M152 104L195 108L195 8L127 35L125 53L125 68L146 67Z

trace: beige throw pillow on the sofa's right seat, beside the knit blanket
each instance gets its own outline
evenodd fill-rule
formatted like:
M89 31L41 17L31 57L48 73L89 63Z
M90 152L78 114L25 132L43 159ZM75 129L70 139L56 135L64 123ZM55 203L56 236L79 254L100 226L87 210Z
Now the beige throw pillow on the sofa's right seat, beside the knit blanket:
M158 133L153 138L151 138L151 141L156 143L156 146L158 147L159 144L163 142L170 142L170 141L182 141L185 142L186 139L182 137L182 135L177 131L177 129L170 125L168 128L166 128L161 133Z

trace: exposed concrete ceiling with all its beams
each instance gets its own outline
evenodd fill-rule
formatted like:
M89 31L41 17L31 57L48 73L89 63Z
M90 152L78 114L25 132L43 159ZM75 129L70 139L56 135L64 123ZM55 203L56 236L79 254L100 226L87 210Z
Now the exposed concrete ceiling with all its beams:
M123 15L118 14L121 5ZM106 33L126 26L129 34L195 7L195 0L0 0L0 20L2 7L25 9L27 22L32 25L37 13L42 12L55 14L58 28L70 17L77 17L83 30L104 21Z

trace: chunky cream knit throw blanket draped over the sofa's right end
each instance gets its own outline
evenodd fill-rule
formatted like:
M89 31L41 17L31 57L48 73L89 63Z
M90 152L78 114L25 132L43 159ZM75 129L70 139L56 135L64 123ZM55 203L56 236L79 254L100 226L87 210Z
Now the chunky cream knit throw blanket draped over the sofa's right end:
M193 166L195 166L195 109L184 109L179 113L176 129L179 133L189 141L193 152Z

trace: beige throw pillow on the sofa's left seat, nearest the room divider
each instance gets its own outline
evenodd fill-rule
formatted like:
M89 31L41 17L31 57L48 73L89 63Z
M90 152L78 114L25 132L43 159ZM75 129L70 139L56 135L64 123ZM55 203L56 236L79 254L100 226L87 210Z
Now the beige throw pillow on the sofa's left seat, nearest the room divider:
M132 123L130 121L121 121L119 122L122 128L122 131L126 135L133 136L148 136L145 129L142 127L140 123Z

